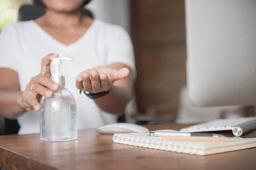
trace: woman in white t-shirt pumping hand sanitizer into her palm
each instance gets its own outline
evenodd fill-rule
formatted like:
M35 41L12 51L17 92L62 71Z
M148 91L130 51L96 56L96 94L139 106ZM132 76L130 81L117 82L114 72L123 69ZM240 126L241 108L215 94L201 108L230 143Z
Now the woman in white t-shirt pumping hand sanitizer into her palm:
M0 34L0 114L17 118L19 134L39 133L39 104L59 85L49 79L55 57L62 62L66 88L77 104L78 129L116 122L132 96L133 47L119 26L81 16L90 0L42 0L47 12L10 24ZM41 67L40 67L41 66ZM91 99L90 94L105 92Z

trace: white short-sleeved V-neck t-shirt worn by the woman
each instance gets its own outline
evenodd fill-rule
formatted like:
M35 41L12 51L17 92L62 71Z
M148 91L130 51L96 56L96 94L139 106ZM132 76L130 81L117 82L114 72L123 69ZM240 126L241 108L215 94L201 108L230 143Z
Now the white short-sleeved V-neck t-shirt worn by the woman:
M135 76L134 51L128 33L120 26L99 20L71 45L58 42L32 20L9 24L0 33L0 67L17 71L21 91L40 73L41 59L51 53L73 58L71 62L62 62L61 73L66 79L65 87L76 99L77 128L115 123L117 117L100 110L92 99L80 94L75 82L81 71L115 62L130 66ZM19 134L39 133L39 115L40 112L28 111L20 116Z

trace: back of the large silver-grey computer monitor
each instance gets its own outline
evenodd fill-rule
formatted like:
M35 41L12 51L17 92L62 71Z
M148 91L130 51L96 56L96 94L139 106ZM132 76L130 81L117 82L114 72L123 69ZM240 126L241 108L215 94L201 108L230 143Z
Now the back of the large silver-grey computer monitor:
M191 102L256 105L256 0L185 2Z

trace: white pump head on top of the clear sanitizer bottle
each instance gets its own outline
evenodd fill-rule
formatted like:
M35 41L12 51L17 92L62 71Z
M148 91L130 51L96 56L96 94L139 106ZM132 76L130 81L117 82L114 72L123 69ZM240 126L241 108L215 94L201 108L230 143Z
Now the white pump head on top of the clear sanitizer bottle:
M51 79L61 86L65 86L65 77L60 73L61 60L72 61L72 58L52 58L52 65L54 66L54 72Z

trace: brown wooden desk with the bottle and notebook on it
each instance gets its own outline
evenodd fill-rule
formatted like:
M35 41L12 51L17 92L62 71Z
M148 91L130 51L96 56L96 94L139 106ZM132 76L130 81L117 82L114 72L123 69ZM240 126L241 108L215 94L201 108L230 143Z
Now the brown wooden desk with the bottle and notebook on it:
M256 136L256 131L246 136ZM70 142L41 142L39 134L0 136L0 167L6 170L252 170L255 164L256 148L195 156L116 144L112 135L99 135L95 130L81 130L79 138Z

